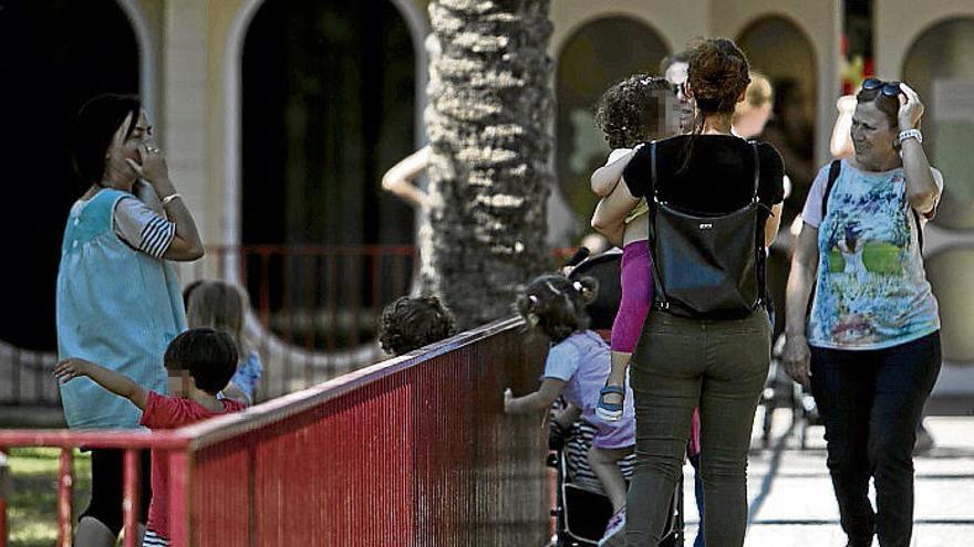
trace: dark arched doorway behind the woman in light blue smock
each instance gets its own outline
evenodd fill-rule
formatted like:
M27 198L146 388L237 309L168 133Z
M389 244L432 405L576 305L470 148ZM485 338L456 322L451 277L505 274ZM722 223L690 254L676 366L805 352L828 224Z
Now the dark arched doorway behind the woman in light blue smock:
M138 93L139 44L112 0L0 2L0 165L7 234L0 340L53 350L54 280L71 203L83 193L71 129L81 105Z

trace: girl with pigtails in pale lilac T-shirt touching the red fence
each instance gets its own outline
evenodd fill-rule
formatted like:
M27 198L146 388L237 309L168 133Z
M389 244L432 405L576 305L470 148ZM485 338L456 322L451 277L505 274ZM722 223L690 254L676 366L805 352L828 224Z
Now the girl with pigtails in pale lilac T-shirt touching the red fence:
M581 418L595 430L589 464L612 502L613 516L605 528L603 541L625 527L625 480L618 462L631 454L635 445L635 411L632 392L626 393L622 419L607 422L595 417L599 390L609 377L609 346L588 328L586 304L598 292L592 277L571 281L559 274L537 277L525 287L515 304L528 328L548 338L550 347L541 386L533 393L514 397L504 392L507 413L543 411L559 396L580 411Z

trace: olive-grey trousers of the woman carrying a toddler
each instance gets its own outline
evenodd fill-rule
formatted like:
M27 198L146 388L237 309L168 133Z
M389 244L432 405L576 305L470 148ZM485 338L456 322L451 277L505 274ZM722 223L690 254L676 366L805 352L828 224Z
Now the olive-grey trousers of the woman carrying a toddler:
M630 372L636 466L626 501L626 546L655 547L664 535L697 406L705 543L744 545L747 451L769 362L770 326L763 309L728 320L650 314Z

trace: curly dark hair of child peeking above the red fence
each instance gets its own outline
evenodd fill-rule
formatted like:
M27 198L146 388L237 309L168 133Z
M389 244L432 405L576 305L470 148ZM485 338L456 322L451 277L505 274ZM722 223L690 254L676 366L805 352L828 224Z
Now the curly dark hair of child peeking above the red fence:
M379 344L390 355L408 354L456 334L453 314L436 296L402 296L382 311Z

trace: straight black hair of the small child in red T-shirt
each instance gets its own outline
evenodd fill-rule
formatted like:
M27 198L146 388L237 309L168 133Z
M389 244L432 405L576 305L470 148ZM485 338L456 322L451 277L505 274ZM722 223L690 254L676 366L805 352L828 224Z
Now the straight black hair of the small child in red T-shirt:
M196 389L217 395L237 371L237 346L226 333L190 328L169 343L164 361L168 370L189 371Z

